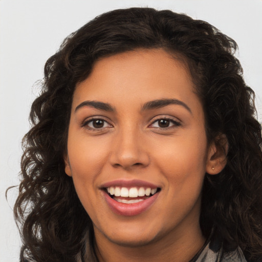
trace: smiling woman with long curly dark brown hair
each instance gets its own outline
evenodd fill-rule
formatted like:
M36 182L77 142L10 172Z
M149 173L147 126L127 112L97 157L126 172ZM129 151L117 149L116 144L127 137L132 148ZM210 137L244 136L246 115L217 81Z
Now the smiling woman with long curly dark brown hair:
M24 138L20 260L259 261L261 127L236 47L150 8L65 39Z

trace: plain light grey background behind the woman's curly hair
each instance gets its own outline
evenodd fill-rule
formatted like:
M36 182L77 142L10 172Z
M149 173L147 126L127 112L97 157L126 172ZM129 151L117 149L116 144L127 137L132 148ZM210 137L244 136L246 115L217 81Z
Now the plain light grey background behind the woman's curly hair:
M29 129L30 104L37 95L34 82L42 78L43 65L65 36L96 15L132 6L171 9L208 21L236 40L237 54L245 80L257 94L262 110L262 1L184 0L184 1L67 1L0 0L0 261L18 261L19 234L12 206L18 184L20 141Z

